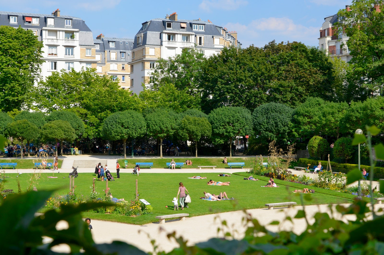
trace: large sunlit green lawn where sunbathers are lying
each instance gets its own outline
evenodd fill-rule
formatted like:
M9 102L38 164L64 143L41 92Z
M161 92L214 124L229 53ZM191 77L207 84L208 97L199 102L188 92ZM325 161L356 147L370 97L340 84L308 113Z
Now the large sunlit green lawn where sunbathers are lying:
M183 182L185 187L190 193L192 203L189 208L185 208L183 212L189 213L190 216L213 214L217 212L228 212L241 209L254 209L265 208L264 204L273 202L294 201L300 204L300 195L294 194L291 191L294 189L302 189L308 187L302 184L276 180L279 188L266 188L260 187L264 185L268 178L257 177L260 181L243 180L243 176L247 176L245 172L233 174L230 177L219 177L217 173L204 174L207 179L215 181L230 181L230 186L212 186L207 185L205 179L188 179L193 175L199 174L150 174L142 173L139 176L132 174L122 173L120 179L114 182L108 182L111 193L114 197L124 198L131 200L135 194L136 179L138 180L139 198L146 199L152 204L153 213L149 215L141 215L138 217L127 217L115 214L94 214L85 212L84 217L91 219L110 220L116 222L124 222L129 224L146 224L155 222L156 215L173 214L172 199L177 195L179 182ZM30 185L31 174L22 174L16 177L16 174L7 174L5 189L17 190L17 179L20 180L22 190ZM58 178L47 178L54 176ZM116 177L116 173L113 172ZM64 178L63 178L64 177ZM93 173L81 173L75 179L76 193L83 196L88 196L91 192L92 180L96 177ZM256 176L255 176L256 177ZM100 197L105 189L106 182L96 181L96 191L100 192ZM40 179L35 183L37 189L57 189L56 195L63 195L68 192L69 178L68 174L55 173L55 174L41 174ZM306 202L306 204L329 204L329 203L343 203L351 202L353 195L336 192L332 190L317 189L316 194L312 194L313 200ZM234 197L235 200L225 201L205 201L199 199L204 196L203 192L207 191L211 194L220 192L227 192L228 197ZM168 206L166 208L165 206ZM179 211L180 212L180 211Z

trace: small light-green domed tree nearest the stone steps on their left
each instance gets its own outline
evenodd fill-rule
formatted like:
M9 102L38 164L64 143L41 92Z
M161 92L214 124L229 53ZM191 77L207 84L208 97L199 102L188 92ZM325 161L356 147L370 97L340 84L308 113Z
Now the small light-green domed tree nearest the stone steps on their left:
M56 144L58 140L61 141L61 155L63 155L63 141L74 141L76 139L76 133L68 121L63 121L61 119L50 121L45 123L43 127L41 127L41 136L45 140L55 139ZM57 146L56 146L56 156Z

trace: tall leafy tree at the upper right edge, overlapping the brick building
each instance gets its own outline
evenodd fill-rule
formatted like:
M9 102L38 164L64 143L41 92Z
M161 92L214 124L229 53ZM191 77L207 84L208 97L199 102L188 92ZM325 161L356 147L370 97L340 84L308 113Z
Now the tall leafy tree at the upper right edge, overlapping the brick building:
M353 0L350 11L339 10L338 30L349 36L347 46L352 60L351 79L356 88L363 87L362 100L377 91L383 95L384 84L384 13L383 0Z

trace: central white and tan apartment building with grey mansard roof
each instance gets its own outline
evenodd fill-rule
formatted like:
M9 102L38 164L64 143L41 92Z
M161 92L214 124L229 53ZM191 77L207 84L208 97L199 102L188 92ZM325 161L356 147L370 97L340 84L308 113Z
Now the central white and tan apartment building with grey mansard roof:
M205 56L220 53L225 46L241 48L236 32L214 25L210 20L178 20L172 13L142 23L131 53L131 91L139 94L141 84L153 82L152 72L159 58L180 54L183 48L195 46Z

